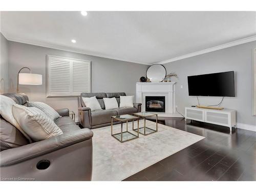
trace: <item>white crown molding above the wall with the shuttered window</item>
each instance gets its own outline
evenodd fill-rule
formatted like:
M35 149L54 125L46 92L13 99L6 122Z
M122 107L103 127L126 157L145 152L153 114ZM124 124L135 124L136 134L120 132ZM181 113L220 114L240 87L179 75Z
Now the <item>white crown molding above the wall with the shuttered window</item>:
M3 32L2 32L2 34L3 34ZM132 62L132 63L142 64L142 65L147 65L147 66L152 65L152 63L140 62L140 61L135 61L135 60L130 60L130 59L123 59L123 58L118 58L118 57L112 57L112 56L103 55L103 54L96 54L96 53L92 53L90 51L84 51L84 50L81 50L81 49L75 49L75 48L70 48L70 47L66 47L66 46L58 46L58 45L48 44L48 43L45 43L45 42L32 42L32 41L20 40L20 39L7 37L6 35L4 35L4 37L9 41L20 42L22 44L29 44L29 45L33 45L33 46L39 46L39 47L45 47L45 48L51 48L51 49L58 49L58 50L62 50L62 51L69 51L69 52L74 52L74 53L86 54L86 55L90 55L90 56L96 56L96 57L103 57L103 58L108 58L108 59Z

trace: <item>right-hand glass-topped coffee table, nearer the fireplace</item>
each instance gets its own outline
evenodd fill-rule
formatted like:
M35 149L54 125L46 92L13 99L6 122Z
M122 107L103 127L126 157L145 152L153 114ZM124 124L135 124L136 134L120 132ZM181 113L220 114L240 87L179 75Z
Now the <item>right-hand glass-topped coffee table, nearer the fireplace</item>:
M139 121L138 121L138 129L135 129L135 130L133 129L134 131L139 130L139 133L142 135L150 135L150 134L158 131L158 125L157 125L158 116L157 116L157 114L140 112L140 113L134 113L133 115L144 119L144 126L139 127ZM146 117L151 117L151 116L156 116L156 129L155 130L146 126Z

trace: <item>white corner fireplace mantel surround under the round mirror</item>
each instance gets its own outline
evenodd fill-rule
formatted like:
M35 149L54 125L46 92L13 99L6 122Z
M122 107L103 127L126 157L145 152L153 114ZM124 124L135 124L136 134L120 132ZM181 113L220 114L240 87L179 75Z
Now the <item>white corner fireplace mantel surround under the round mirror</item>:
M145 111L146 96L164 96L165 113L157 113L159 117L182 117L176 112L175 105L176 82L137 82L136 102L142 103L141 111Z

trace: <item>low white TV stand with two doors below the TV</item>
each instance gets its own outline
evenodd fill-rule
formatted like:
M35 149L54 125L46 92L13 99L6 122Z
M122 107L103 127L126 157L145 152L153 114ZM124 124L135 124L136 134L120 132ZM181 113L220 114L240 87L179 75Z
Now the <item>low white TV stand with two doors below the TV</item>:
M236 128L235 110L212 110L197 107L186 107L185 120L187 119L228 126L230 133L232 132L232 127Z

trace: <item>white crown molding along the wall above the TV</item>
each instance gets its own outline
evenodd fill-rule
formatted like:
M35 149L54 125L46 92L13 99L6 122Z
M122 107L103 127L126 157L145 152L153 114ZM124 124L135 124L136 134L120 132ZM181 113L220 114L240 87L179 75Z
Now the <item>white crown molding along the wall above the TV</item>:
M236 40L236 41L228 42L227 44L211 47L211 48L204 49L204 50L201 50L201 51L197 51L197 52L194 52L194 53L189 53L189 54L182 55L182 56L179 56L179 57L174 57L174 58L171 58L171 59L163 60L163 61L157 62L156 64L165 64L165 63L168 63L168 62L173 62L173 61L185 59L185 58L188 58L188 57L194 57L194 56L197 56L197 55L202 55L204 53L209 53L209 52L212 52L212 51L218 51L218 50L225 49L225 48L228 48L228 47L233 47L233 46L237 46L237 45L240 45L240 44L245 44L246 42L251 42L251 41L254 41L254 40L256 40L256 35L246 37L246 38L242 38L242 39L239 39L239 40Z

